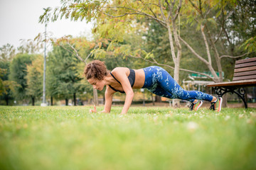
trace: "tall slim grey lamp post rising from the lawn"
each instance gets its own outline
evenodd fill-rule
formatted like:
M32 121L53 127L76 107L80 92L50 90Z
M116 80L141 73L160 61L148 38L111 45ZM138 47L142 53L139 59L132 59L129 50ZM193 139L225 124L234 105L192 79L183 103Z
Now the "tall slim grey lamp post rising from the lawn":
M46 8L43 8L46 11ZM44 57L43 57L43 103L41 106L47 106L46 103L46 27L47 27L47 14L46 14L46 21L45 21L45 49L44 49Z

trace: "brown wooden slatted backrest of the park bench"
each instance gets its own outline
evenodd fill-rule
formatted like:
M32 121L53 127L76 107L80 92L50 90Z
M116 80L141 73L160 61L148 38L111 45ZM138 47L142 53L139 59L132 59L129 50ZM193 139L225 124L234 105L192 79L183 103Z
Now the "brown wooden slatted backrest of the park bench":
M233 81L247 79L256 79L256 57L235 62Z

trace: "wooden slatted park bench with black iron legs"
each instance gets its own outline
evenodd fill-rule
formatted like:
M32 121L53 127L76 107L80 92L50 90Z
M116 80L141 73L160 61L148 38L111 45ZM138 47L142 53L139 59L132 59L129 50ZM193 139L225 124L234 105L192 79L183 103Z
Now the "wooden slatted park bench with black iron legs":
M245 108L247 108L244 88L247 86L256 86L256 57L237 60L235 62L233 81L208 84L207 86L213 87L219 97L228 92L237 94L242 98Z

